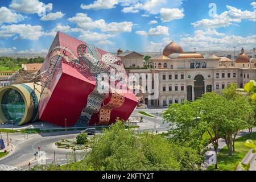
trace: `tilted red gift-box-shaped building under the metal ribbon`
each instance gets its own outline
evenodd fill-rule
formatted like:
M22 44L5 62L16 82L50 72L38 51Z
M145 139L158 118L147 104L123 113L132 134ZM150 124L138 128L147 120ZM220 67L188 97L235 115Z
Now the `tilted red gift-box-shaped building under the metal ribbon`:
M58 32L53 40L50 51L55 47L65 47L77 55L77 47L85 44L71 36ZM61 50L65 53L65 50ZM104 55L106 52L98 49ZM40 72L49 69L50 60L47 56L46 61ZM56 67L51 83L44 88L39 102L39 119L59 126L75 126L80 117L81 111L86 106L88 95L93 92L96 81L88 79L71 64L61 61ZM113 108L107 124L114 123L117 118L127 120L138 104L134 93L123 94L123 104L118 108ZM112 94L105 98L102 105L110 102ZM92 114L86 125L95 125L100 122L100 112Z

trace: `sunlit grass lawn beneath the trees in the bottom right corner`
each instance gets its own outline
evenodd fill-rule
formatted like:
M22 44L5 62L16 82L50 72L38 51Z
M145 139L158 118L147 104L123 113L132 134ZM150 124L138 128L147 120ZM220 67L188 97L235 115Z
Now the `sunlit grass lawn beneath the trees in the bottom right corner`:
M232 156L228 156L228 147L223 147L220 152L218 152L218 170L219 171L234 171L237 169L239 162L245 158L246 154L249 152L250 148L245 146L247 139L256 140L256 133L253 133L253 137L250 138L250 134L246 134L243 137L237 138L235 142L235 150ZM208 171L213 171L214 166L209 166Z

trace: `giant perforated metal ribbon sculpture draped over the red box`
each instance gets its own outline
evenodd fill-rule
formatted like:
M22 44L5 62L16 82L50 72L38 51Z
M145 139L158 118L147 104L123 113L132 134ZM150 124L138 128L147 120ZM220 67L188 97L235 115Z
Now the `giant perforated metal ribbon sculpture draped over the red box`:
M29 73L21 70L14 73L10 77L10 81L12 84L35 83L40 81L43 83L42 94L44 94L44 88L47 88L51 84L56 68L60 66L60 63L68 64L76 68L88 80L96 81L95 88L88 95L87 104L82 109L76 126L86 126L92 115L98 112L100 112L99 124L108 124L112 110L121 107L125 102L125 97L122 89L115 88L117 82L115 82L115 85L110 85L109 81L99 79L98 76L104 73L108 77L111 77L113 76L111 75L113 73L112 71L114 71L114 75L125 74L122 62L110 53L104 53L102 55L96 47L89 44L78 46L77 55L79 57L66 47L55 47L48 54L49 67L46 71ZM122 84L125 85L126 81L123 81ZM112 93L110 101L104 105L104 100L109 97L109 93Z

